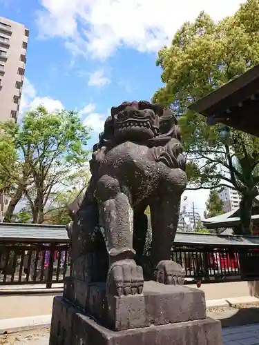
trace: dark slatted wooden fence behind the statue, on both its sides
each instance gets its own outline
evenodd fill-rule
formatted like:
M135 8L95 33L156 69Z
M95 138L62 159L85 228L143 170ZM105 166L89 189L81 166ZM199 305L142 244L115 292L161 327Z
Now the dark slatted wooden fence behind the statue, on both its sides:
M70 275L68 250L69 244L0 243L0 286L46 284L51 288L64 282ZM184 268L186 284L259 280L259 250L255 248L174 247L172 259Z

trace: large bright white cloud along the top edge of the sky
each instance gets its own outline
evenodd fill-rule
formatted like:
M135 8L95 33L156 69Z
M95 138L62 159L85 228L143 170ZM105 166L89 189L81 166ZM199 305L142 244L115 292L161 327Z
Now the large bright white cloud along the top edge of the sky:
M103 59L119 46L157 51L171 42L184 21L205 10L218 21L245 0L41 0L43 37L63 37L73 55Z

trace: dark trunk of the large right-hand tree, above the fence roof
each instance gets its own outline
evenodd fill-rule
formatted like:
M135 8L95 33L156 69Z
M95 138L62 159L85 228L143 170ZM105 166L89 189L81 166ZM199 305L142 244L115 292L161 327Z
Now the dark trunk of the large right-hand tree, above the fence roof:
M253 194L242 196L240 202L240 226L235 227L235 235L251 235L251 215Z

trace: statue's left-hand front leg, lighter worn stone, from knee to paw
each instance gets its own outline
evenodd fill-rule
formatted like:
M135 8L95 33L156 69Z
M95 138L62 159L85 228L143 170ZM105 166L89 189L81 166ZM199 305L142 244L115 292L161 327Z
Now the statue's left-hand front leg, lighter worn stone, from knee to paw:
M128 195L122 192L117 179L104 175L97 181L95 196L110 261L106 293L108 297L142 293L142 268L133 260L133 209Z

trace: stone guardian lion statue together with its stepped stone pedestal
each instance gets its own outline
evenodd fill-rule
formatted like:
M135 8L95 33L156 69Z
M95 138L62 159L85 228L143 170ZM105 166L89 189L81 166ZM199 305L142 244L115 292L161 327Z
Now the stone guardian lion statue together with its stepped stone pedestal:
M187 183L181 151L171 110L147 101L111 109L88 189L70 206L72 274L53 304L50 345L222 345L203 291L183 286L171 261Z

